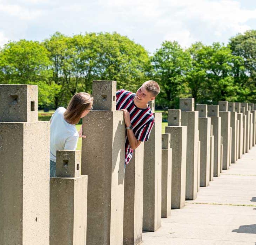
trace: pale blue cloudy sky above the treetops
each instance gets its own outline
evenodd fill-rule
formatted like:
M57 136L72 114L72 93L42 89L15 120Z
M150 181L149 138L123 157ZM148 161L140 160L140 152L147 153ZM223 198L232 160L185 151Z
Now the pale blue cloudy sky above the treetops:
M248 29L256 29L255 0L0 0L0 46L42 41L55 31L116 31L152 53L164 40L184 48L227 43Z

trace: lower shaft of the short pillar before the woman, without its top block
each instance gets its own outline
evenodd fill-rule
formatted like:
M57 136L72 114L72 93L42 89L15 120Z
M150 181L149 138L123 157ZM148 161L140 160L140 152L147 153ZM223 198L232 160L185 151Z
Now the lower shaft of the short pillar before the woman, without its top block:
M50 245L86 244L87 176L50 178Z

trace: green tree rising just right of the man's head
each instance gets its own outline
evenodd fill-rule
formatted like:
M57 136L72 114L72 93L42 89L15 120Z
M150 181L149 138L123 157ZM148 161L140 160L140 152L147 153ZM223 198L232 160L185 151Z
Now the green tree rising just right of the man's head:
M165 41L152 57L154 77L162 92L157 102L163 107L178 106L178 99L186 91L186 72L190 66L190 54L176 42Z

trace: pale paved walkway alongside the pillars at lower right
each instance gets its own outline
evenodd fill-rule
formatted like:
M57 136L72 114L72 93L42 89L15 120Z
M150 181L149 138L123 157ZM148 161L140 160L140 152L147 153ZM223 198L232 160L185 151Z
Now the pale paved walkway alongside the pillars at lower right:
M172 209L156 232L143 232L143 245L163 244L256 244L256 147L201 187L196 200Z

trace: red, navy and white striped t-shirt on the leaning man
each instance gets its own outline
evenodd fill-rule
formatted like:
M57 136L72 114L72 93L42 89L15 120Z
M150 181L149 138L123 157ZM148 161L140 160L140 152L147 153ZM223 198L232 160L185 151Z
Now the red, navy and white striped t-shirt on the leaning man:
M135 95L135 93L124 89L118 90L116 92L116 110L119 111L121 109L127 109L130 114L133 133L136 139L139 141L147 141L155 123L155 118L150 107L140 109L134 104L133 99ZM126 142L124 163L128 164L132 159L133 149L130 147L127 132L125 136Z

